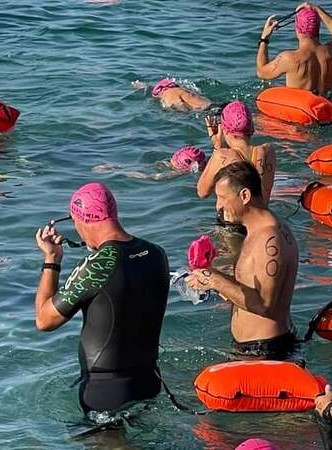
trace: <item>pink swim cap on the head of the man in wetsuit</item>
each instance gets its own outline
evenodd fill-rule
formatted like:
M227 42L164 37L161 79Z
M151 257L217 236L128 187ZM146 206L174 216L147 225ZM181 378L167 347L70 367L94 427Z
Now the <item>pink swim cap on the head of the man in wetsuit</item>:
M117 219L116 201L101 183L88 183L75 191L70 199L70 214L85 223Z

